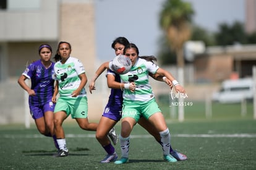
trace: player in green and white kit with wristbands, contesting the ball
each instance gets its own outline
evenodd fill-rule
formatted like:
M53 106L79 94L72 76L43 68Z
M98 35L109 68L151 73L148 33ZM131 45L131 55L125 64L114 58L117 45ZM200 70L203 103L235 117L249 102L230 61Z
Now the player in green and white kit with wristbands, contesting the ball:
M169 72L161 69L151 61L141 59L139 57L139 49L134 44L130 43L124 48L124 55L132 61L132 68L127 74L120 75L122 80L121 89L124 89L120 135L122 157L114 163L123 164L129 162L129 136L140 117L147 119L160 134L164 160L176 162L177 159L169 153L171 145L169 129L155 101L155 96L148 81L148 73L167 77L173 82L176 91L179 93L186 93L186 91ZM109 68L111 68L111 62L109 63ZM134 82L130 82L130 77L137 77L137 79L134 79Z

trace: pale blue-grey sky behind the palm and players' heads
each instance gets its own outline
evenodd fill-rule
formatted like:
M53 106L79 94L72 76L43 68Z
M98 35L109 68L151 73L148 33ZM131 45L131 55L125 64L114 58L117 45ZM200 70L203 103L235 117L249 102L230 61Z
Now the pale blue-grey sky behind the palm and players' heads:
M165 0L96 0L96 55L101 61L114 57L111 43L118 36L125 36L135 43L140 55L155 55L160 50L163 31L158 15ZM195 11L193 22L210 32L218 24L234 21L245 22L245 0L184 0ZM156 56L157 57L157 56Z

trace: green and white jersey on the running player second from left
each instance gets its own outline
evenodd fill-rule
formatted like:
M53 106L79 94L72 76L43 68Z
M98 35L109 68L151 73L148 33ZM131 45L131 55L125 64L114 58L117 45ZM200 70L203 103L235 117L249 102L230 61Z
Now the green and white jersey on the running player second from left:
M85 68L79 59L70 56L64 64L61 61L54 64L54 73L59 82L59 96L71 97L81 82L78 75L85 73ZM80 91L79 96L86 96L85 88Z

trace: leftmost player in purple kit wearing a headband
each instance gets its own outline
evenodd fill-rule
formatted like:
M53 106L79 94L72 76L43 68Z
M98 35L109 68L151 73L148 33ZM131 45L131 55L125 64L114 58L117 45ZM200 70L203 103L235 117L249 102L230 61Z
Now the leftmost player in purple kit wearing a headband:
M46 137L53 137L55 147L59 149L54 135L54 106L51 101L54 91L54 62L51 61L51 46L44 44L38 49L40 58L32 62L20 75L18 83L27 91L30 114L35 120L38 131ZM31 87L25 83L31 80Z

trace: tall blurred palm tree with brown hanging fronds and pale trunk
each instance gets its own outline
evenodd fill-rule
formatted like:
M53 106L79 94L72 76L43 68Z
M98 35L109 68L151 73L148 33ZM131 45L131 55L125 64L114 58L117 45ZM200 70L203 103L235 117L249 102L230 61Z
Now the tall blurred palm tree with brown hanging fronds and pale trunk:
M184 80L184 54L183 45L190 38L189 22L194 10L189 2L181 0L166 0L160 13L160 26L167 36L168 43L177 56L177 73L179 81ZM183 101L183 98L179 98ZM184 106L179 106L179 121L184 121Z

